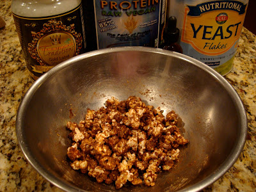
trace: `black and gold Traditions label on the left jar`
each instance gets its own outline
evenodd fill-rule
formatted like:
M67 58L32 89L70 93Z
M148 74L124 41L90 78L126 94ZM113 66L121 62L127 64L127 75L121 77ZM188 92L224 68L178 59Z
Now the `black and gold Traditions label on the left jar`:
M51 17L20 17L13 13L22 51L33 80L62 61L85 52L81 5L70 12Z

